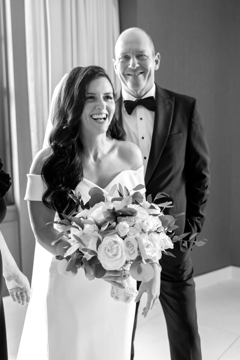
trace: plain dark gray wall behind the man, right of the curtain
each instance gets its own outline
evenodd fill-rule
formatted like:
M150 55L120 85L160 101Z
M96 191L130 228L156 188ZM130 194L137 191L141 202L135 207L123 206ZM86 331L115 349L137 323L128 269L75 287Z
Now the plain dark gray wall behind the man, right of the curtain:
M211 154L211 189L201 235L192 252L195 275L240 266L240 1L120 0L121 31L141 27L160 52L155 81L194 96Z

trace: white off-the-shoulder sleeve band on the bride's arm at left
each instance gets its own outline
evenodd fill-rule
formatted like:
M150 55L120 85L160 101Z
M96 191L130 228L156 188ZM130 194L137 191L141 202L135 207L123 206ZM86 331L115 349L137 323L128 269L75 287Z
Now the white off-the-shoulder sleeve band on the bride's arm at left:
M24 200L42 201L47 186L41 175L27 174L27 189Z

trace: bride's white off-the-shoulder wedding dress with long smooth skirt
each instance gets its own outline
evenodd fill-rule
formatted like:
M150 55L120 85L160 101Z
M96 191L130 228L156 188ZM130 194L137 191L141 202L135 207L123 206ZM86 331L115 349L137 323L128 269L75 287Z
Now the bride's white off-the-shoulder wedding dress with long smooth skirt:
M118 183L129 190L144 184L143 166L120 172L102 190L108 194ZM41 201L44 186L40 175L28 175L25 199ZM94 186L86 179L77 185L84 203ZM58 263L36 242L32 295L17 360L129 360L135 302L113 300L111 285L89 281L82 269L72 278L59 275Z

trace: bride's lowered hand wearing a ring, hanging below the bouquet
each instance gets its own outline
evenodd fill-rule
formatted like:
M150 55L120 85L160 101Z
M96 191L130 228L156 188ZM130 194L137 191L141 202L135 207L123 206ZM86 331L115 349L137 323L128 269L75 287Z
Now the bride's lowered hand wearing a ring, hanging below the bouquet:
M149 280L148 282L141 282L138 295L135 299L135 302L138 302L144 292L148 294L146 306L142 310L142 315L144 318L146 318L149 311L153 309L154 305L156 305L160 294L160 276L162 268L158 266L158 264L151 264L151 266L154 269L153 279Z

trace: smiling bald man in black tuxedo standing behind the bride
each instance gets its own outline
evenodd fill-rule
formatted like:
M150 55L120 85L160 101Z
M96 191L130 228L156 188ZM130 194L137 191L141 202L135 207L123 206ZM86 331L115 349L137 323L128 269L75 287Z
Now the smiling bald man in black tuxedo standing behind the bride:
M154 83L160 54L155 53L153 40L142 29L130 28L121 33L113 64L122 85L115 95L115 116L123 125L127 140L141 149L146 196L151 194L154 199L160 191L169 195L166 201L172 201L174 207L166 210L178 219L177 235L200 232L210 180L209 152L196 100ZM176 242L172 250L175 257L163 255L159 261L162 266L159 300L166 318L172 360L201 359L190 258L192 244L185 247ZM144 290L140 287L137 301ZM154 297L156 289L153 286L152 295L151 289L147 292L148 297ZM135 329L136 316L131 359Z

